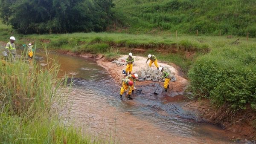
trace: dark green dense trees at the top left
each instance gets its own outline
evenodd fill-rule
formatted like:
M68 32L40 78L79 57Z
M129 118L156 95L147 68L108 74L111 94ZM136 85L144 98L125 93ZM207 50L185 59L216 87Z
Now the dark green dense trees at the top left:
M112 0L1 0L0 17L22 34L104 31Z

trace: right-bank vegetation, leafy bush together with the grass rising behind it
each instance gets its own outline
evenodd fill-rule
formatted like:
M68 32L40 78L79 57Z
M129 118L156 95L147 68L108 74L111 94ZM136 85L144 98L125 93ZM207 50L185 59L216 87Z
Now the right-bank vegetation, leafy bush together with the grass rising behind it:
M189 70L194 96L217 107L256 110L255 46L218 49L199 58Z

